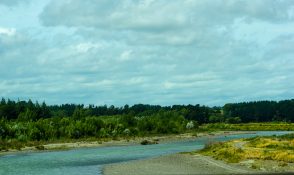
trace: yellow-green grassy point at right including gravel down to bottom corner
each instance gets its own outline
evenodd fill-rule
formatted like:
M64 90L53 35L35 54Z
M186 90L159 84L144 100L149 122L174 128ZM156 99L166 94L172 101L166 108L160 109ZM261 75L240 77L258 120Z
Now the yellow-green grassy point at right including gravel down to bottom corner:
M294 134L217 142L191 152L199 153L261 171L294 173Z

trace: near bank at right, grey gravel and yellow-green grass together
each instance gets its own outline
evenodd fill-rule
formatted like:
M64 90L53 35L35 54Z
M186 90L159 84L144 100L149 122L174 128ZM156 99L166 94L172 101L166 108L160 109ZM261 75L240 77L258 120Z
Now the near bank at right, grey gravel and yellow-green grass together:
M201 151L106 165L103 174L293 174L293 143L290 134L216 142Z

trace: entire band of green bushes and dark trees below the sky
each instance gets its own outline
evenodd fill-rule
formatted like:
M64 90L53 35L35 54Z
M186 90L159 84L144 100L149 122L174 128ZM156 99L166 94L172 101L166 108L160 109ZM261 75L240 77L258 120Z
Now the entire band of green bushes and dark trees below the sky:
M222 107L199 104L115 107L47 105L2 98L0 145L4 149L16 142L177 134L208 123L272 121L293 122L294 100L230 103Z

